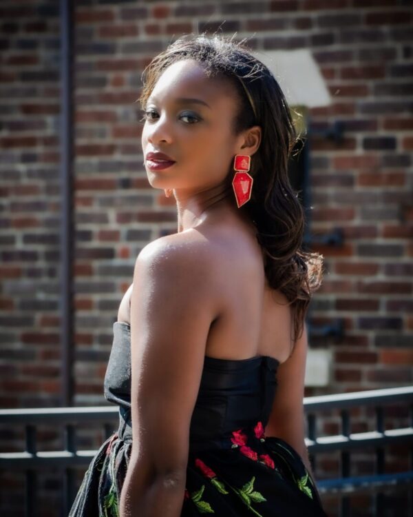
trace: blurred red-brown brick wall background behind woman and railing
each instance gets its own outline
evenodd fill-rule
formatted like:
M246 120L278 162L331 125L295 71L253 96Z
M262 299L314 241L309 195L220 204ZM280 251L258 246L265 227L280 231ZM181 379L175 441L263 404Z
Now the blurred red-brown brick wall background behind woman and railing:
M173 199L142 165L141 74L169 42L200 32L248 38L299 114L290 177L306 247L326 270L308 314L306 396L410 385L412 21L407 0L1 0L0 407L107 404L112 325L136 256L176 231ZM412 425L409 405L385 411L386 429ZM350 416L353 433L377 421L370 406ZM342 423L329 409L317 434ZM1 451L23 450L24 427L0 424ZM56 449L58 435L39 425L38 447ZM393 443L383 469L413 469L409 451ZM355 452L351 474L374 461ZM337 477L342 462L338 450L319 455L317 478ZM23 514L23 481L1 470L2 515ZM60 515L60 490L39 473L26 514ZM399 492L385 515L412 511L411 487ZM343 515L334 494L325 500ZM369 501L357 496L351 515L377 512Z

